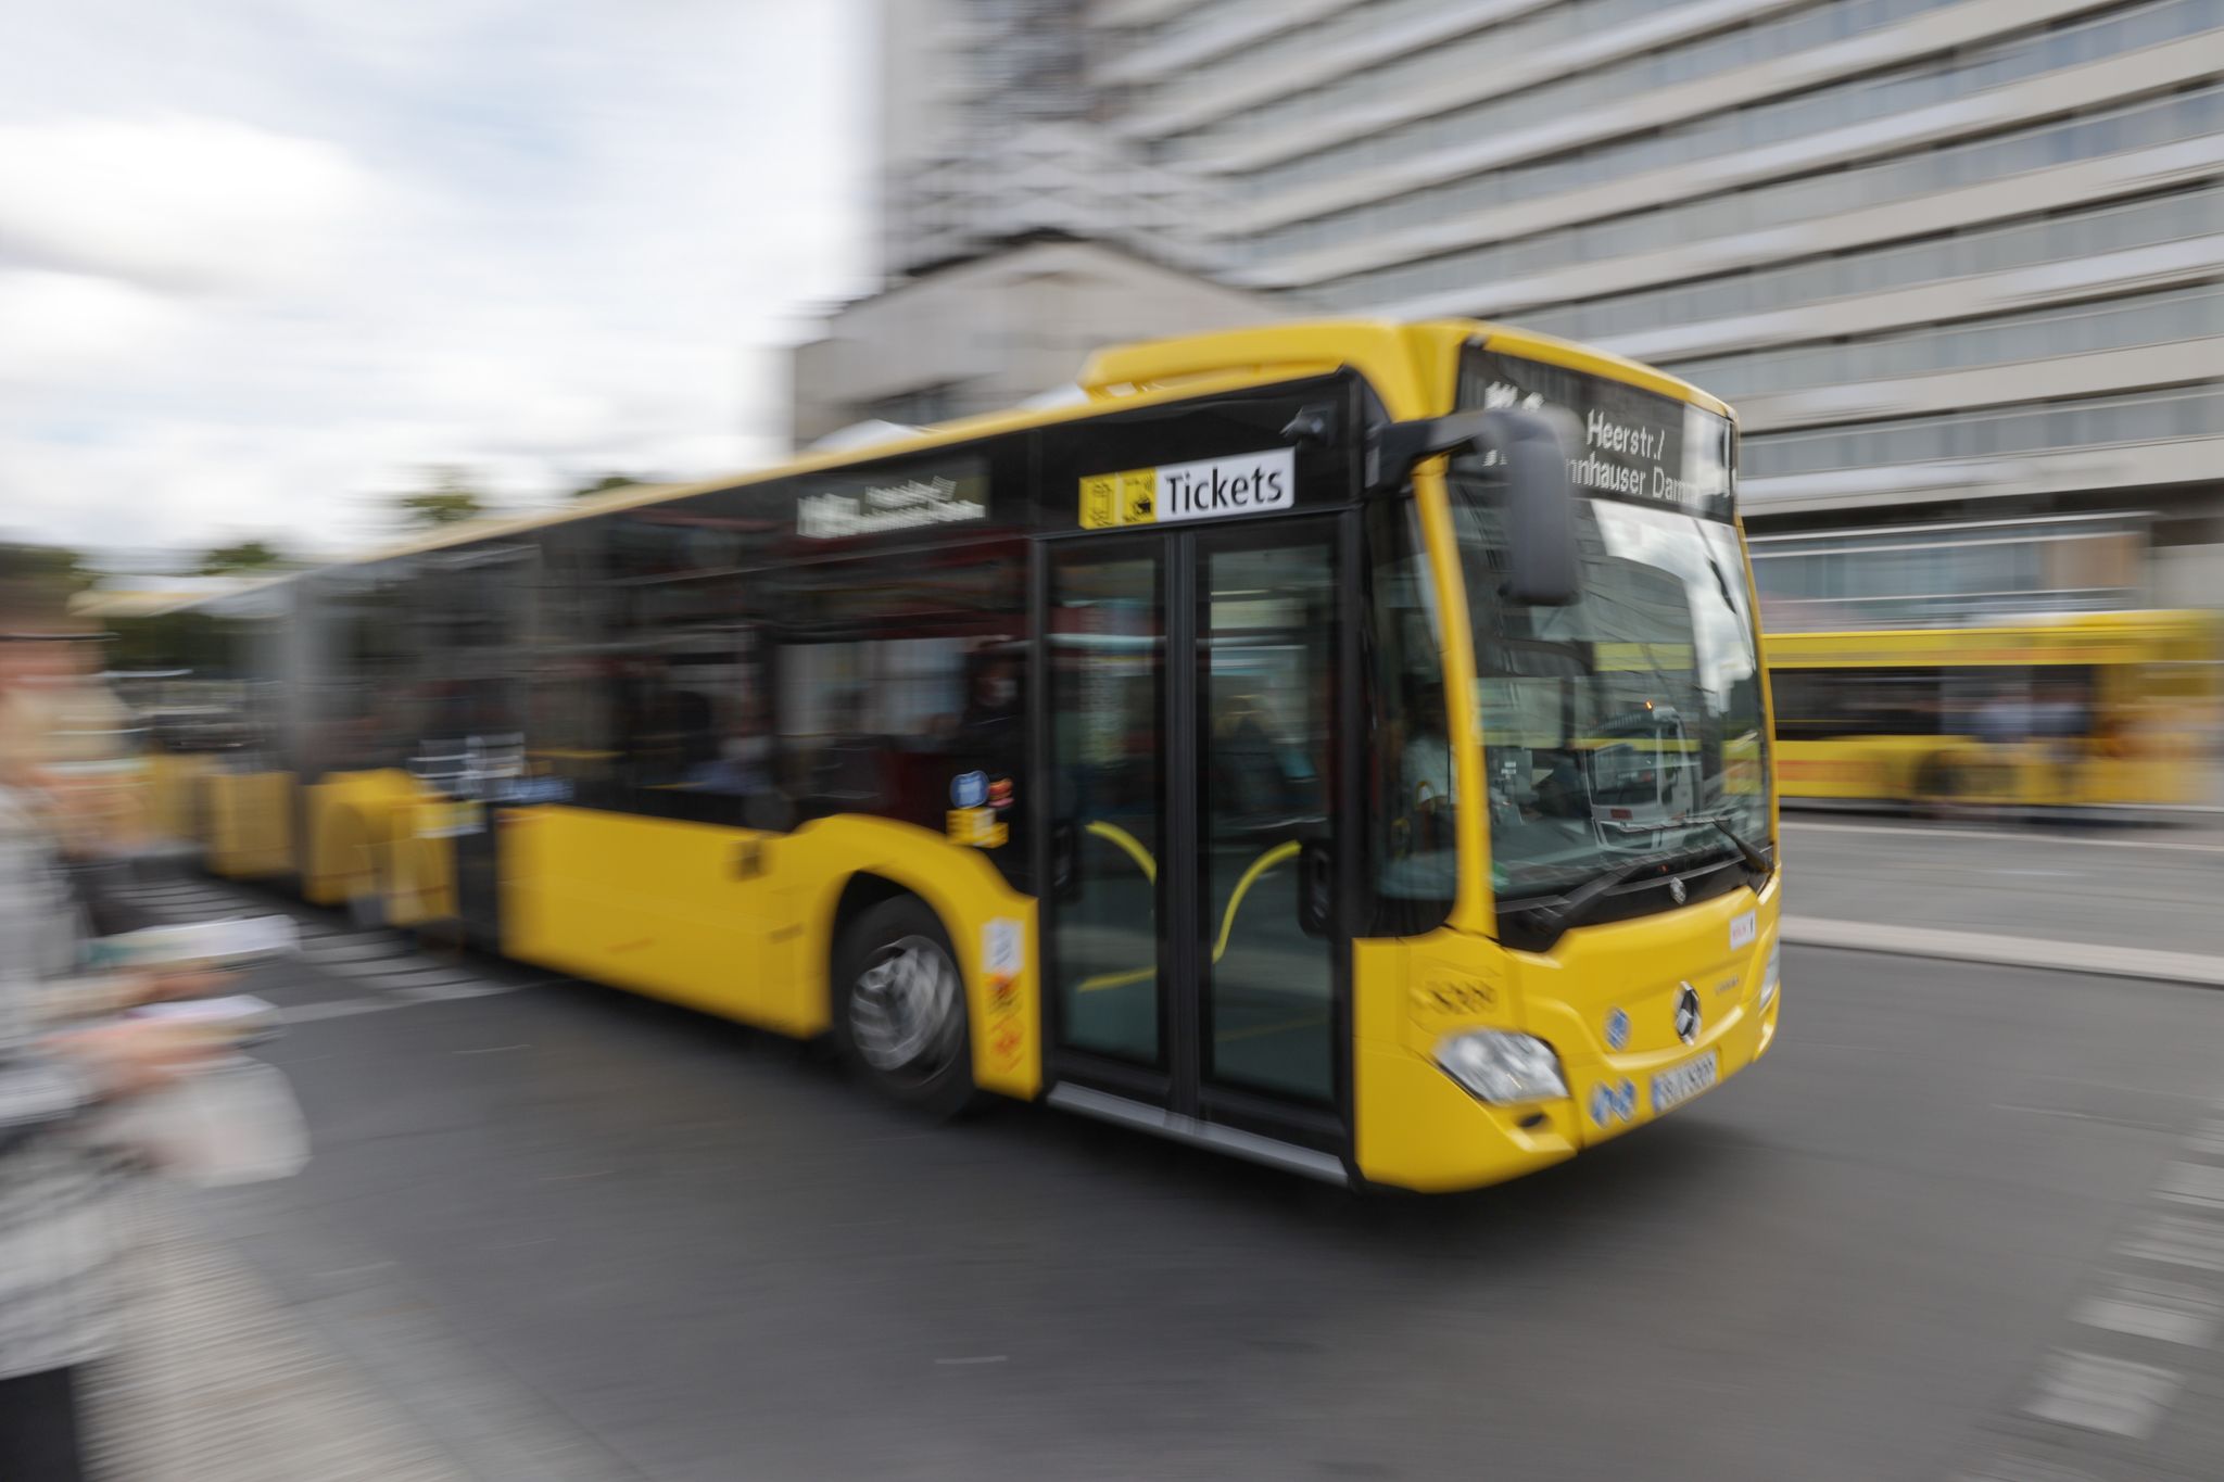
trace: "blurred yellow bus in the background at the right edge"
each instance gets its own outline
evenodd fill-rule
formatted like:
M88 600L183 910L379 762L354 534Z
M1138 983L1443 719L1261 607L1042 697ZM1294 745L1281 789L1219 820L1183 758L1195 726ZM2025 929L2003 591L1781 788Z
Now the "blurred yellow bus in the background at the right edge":
M1773 633L1784 793L1930 809L2208 802L2211 613Z

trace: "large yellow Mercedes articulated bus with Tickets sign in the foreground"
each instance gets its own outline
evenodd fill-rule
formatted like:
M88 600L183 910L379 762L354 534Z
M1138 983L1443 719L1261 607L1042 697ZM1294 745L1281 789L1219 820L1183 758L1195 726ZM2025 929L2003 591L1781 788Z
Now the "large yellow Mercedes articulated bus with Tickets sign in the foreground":
M254 742L167 815L907 1102L1337 1182L1506 1180L1768 1049L1728 407L1477 322L1081 384L216 602Z

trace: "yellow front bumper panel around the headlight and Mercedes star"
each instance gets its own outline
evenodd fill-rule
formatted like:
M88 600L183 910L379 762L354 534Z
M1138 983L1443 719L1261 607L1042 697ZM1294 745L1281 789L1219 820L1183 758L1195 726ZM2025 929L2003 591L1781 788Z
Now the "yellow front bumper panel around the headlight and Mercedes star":
M1781 875L1759 895L1730 891L1681 911L1581 927L1550 955L1506 951L1461 931L1354 944L1352 1091L1357 1162L1370 1182L1441 1193L1479 1189L1572 1158L1657 1120L1650 1078L1708 1051L1721 1080L1775 1040L1781 991L1759 1002L1777 942ZM1753 940L1730 929L1753 913ZM1668 964L1668 967L1664 967ZM1675 1038L1675 998L1690 982L1701 1031ZM1630 1015L1630 1038L1610 1051L1606 1015ZM1537 1035L1561 1058L1570 1098L1490 1107L1437 1069L1439 1040L1470 1029ZM1601 1084L1635 1089L1628 1115L1590 1120ZM1526 1122L1535 1122L1528 1124Z

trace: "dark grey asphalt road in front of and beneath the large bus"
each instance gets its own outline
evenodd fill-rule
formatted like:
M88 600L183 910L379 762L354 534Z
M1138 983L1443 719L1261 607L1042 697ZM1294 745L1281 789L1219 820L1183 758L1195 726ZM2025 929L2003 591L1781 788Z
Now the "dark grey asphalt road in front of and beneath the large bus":
M318 1155L200 1211L487 1482L2224 1478L2217 991L1793 949L1753 1073L1357 1200L311 949L254 987Z

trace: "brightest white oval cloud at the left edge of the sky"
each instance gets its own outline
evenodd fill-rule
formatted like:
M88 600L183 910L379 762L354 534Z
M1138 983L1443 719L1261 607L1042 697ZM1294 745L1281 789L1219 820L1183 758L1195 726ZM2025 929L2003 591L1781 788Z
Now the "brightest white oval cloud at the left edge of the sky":
M0 124L0 253L160 291L298 284L369 216L345 151L220 118Z

